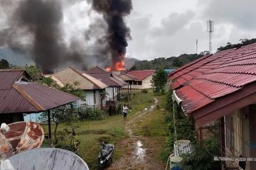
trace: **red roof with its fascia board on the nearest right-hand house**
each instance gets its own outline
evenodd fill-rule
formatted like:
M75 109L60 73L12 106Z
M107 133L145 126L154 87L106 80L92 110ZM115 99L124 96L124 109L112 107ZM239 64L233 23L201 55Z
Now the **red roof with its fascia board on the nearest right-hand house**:
M171 73L169 79L183 110L198 123L221 118L256 102L248 100L256 95L252 86L256 85L256 43L201 57Z

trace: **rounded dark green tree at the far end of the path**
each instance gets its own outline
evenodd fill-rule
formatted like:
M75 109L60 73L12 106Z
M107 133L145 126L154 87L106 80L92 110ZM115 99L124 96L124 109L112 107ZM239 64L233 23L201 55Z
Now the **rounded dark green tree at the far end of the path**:
M159 69L152 78L152 84L155 92L164 92L164 87L168 80L168 74L164 69Z

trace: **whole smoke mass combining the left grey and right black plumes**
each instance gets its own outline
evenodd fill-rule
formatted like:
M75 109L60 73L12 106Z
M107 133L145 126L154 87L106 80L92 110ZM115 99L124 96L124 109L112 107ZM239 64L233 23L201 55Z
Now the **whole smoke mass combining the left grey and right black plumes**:
M75 3L81 0L76 0ZM132 0L87 0L92 11L102 14L84 30L84 39L65 39L63 8L67 0L0 0L0 16L6 16L6 28L0 28L0 47L30 54L43 72L73 65L87 69L122 60L130 30L124 17L132 10ZM87 15L90 16L91 11ZM0 19L1 22L1 19Z

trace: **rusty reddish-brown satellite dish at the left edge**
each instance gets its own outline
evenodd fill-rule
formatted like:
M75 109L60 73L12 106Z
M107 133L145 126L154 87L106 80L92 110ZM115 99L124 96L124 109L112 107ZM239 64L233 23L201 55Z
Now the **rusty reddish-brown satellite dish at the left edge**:
M18 122L8 125L9 131L0 130L0 160L13 154L41 147L44 131L33 122Z

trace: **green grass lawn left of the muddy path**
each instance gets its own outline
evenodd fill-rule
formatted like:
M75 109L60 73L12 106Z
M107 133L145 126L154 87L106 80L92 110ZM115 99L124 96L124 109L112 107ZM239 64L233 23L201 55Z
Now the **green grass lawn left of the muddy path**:
M152 91L144 94L141 91L134 92L132 101L132 111L128 113L128 119L137 111L142 111L147 106L150 106L154 101ZM71 125L60 124L58 126L57 134L65 134L64 129L68 128L70 131L72 127L75 128L75 133L80 140L80 149L78 154L88 164L90 169L97 169L97 157L100 152L102 140L110 143L116 143L122 138L127 137L124 130L126 121L123 120L122 115L109 116L105 120L74 122ZM43 125L43 128L48 133L48 126ZM55 126L52 126L52 132ZM121 153L119 149L114 151L114 159L119 159Z

